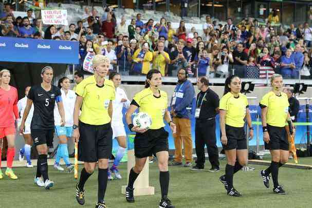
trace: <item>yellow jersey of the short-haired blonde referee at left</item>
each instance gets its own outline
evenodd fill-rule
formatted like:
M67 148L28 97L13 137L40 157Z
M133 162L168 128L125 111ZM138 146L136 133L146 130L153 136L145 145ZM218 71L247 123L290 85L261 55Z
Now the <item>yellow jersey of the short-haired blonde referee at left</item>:
M115 87L111 80L104 80L97 86L95 76L88 77L76 87L76 93L83 98L79 120L90 125L103 125L111 122L108 115L109 101L115 100Z

